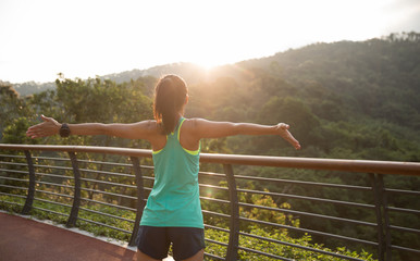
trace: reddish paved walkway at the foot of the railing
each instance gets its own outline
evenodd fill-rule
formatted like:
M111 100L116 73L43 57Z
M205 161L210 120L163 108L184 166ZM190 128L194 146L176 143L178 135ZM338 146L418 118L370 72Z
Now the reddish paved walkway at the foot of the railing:
M17 215L0 213L0 261L133 261L133 250Z

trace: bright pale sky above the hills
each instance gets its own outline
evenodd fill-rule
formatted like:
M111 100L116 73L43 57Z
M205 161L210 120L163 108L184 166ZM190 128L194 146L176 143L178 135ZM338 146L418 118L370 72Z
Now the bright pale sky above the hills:
M419 0L0 0L0 80L211 67L412 30Z

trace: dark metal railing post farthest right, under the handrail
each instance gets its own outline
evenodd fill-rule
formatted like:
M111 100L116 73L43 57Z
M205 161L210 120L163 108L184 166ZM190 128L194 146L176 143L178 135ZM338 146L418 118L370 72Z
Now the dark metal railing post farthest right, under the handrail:
M376 175L369 173L369 177L372 184L373 198L374 198L374 210L376 215L378 223L378 259L384 261L384 233L383 233L383 217L382 217L382 197L381 190L379 188L380 184L378 182Z

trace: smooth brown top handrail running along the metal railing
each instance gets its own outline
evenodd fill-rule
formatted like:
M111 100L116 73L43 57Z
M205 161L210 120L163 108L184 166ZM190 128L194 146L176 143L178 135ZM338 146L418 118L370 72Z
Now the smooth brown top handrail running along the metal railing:
M147 149L95 147L95 146L0 144L0 149L111 153L111 154L121 154L121 156L128 156L128 157L146 157L146 158L152 157L151 150L147 150ZM233 164L233 165L277 166L277 167L420 176L420 162L342 160L342 159L317 159L317 158L218 154L218 153L200 153L200 162Z

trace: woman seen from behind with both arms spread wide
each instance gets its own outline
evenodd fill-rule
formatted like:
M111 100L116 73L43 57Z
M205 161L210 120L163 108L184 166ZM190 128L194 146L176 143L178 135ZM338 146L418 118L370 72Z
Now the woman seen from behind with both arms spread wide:
M155 88L155 120L132 124L60 124L41 116L32 126L32 138L60 134L109 135L146 139L151 144L155 184L141 216L137 236L137 260L162 260L172 243L175 260L202 260L205 235L199 200L200 139L233 135L280 135L296 149L299 142L284 123L268 126L251 123L184 119L188 103L185 82L176 75L162 77Z

